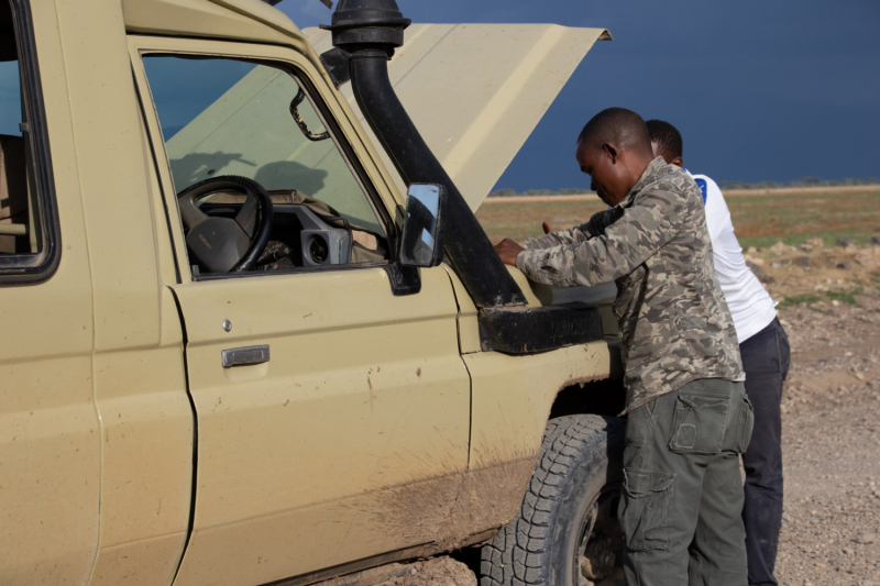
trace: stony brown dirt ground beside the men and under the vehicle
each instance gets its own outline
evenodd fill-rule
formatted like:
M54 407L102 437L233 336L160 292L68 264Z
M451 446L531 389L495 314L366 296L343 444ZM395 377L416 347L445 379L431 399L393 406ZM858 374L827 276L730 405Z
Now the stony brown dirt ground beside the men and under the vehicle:
M792 346L779 583L880 586L880 245L814 240L747 258L782 302ZM477 568L474 553L455 557ZM476 585L459 561L420 564L388 586Z

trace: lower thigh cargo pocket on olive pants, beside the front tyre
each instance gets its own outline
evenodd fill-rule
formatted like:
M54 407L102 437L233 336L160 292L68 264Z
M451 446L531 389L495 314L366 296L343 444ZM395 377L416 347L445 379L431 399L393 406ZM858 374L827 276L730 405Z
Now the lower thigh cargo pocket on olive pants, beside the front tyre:
M619 517L629 551L666 550L669 546L667 518L674 479L675 475L668 472L624 469Z

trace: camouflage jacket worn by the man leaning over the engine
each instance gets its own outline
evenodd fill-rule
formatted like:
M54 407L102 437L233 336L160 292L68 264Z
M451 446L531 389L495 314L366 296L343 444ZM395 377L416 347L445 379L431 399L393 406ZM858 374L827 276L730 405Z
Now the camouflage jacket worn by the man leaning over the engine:
M697 378L745 379L703 199L683 169L658 157L614 208L522 246L516 265L538 283L616 280L624 412Z

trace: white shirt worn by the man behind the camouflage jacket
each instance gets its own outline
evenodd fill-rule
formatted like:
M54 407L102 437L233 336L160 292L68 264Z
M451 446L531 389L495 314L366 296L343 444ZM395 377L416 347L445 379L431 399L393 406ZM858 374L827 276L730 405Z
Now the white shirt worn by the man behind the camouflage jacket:
M741 344L773 321L777 317L777 303L746 265L743 248L734 234L730 210L727 209L727 202L717 184L705 175L691 174L691 177L703 192L715 272Z

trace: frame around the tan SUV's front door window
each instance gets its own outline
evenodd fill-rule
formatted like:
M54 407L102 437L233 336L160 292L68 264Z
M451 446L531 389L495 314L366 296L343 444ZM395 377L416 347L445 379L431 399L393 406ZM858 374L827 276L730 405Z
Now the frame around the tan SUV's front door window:
M146 41L146 42L145 42ZM150 43L148 41L160 41L156 43ZM162 46L165 43L161 43L161 41L169 41L173 45L183 45L183 46ZM282 276L282 275L296 275L296 274L311 274L316 272L327 272L327 270L359 270L359 269L367 269L367 268L377 268L377 267L387 267L392 265L396 259L396 248L397 248L397 241L399 239L399 226L398 223L395 222L392 213L389 212L387 206L387 199L383 198L380 189L375 185L375 174L371 174L370 169L367 169L362 162L362 156L359 155L358 148L354 144L352 144L352 136L344 131L342 124L340 124L338 120L337 113L333 111L333 108L328 103L327 97L322 95L320 88L315 82L315 77L317 71L311 71L312 67L311 64L308 62L306 56L301 55L300 53L292 49L290 47L278 47L273 45L266 45L265 48L270 49L273 55L258 55L257 53L263 53L260 51L249 51L255 48L254 45L251 44L239 44L229 41L212 41L212 40L205 40L205 46L196 46L201 40L190 40L190 38L155 38L155 37L144 37L139 35L129 35L129 47L130 47L130 56L132 58L132 68L134 71L136 89L139 92L139 99L141 101L142 107L142 114L144 115L144 123L147 129L147 133L150 134L150 142L154 151L157 151L161 146L162 155L157 156L158 153L154 152L154 163L156 164L156 173L160 177L160 183L170 185L174 188L174 178L170 173L170 162L168 159L167 150L165 146L165 139L162 134L158 112L156 111L155 101L153 100L152 90L150 88L150 80L146 76L146 70L144 68L143 58L146 56L165 56L165 57L178 57L178 58L193 58L193 59L231 59L231 60L240 60L245 63L251 63L254 65L263 65L266 67L273 67L275 69L279 69L287 75L289 75L306 92L306 97L311 103L315 112L320 118L324 129L330 133L330 136L337 146L340 156L343 157L345 161L349 170L354 176L354 179L358 181L361 190L363 191L364 197L367 200L369 206L373 210L376 215L377 223L385 230L385 242L388 245L388 258L382 262L373 262L373 263L359 263L359 264L345 264L345 265L331 265L331 266L323 266L323 267L289 267L283 268L277 270L267 270L267 272L246 272L246 273L224 273L224 274L197 274L194 275L189 263L189 255L186 250L186 243L184 239L184 226L180 220L179 210L176 209L174 212L169 209L172 201L176 203L176 194L174 194L174 189L167 189L167 194L164 195L165 201L165 210L168 214L168 224L172 228L172 242L173 246L176 248L176 261L178 264L178 281L205 281L205 280L218 280L218 279L228 279L228 278L242 278L242 277L268 277L268 276ZM223 45L226 51L218 51L217 44ZM241 46L242 52L229 51L230 48L238 48ZM292 55L296 56L297 58L290 58L290 55L279 56L277 55L277 51L272 49L285 49L292 51ZM136 59L136 64L135 64ZM147 111L150 110L150 111ZM344 114L342 112L341 114ZM351 121L349 121L351 124ZM363 155L369 157L369 152L364 152ZM369 157L372 161L372 157ZM163 162L160 164L160 159ZM373 162L375 165L375 162ZM164 167L164 168L163 168ZM377 169L376 169L377 170ZM163 191L166 191L163 188ZM393 198L393 196L392 196ZM395 206L399 207L399 202L395 201ZM177 218L177 222L179 229L174 229L173 224L175 221L173 217Z

